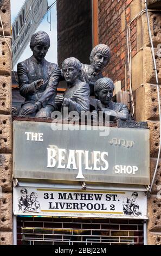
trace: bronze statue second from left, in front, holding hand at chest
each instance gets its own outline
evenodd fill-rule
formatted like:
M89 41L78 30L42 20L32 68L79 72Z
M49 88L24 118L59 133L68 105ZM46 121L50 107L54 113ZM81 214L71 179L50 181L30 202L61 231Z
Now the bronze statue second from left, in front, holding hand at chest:
M89 111L90 89L87 83L80 81L81 63L78 59L70 57L62 63L62 72L67 82L67 90L63 95L55 97L57 109L68 107L68 112L79 113Z

